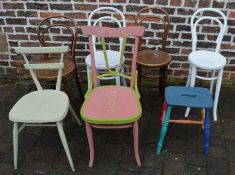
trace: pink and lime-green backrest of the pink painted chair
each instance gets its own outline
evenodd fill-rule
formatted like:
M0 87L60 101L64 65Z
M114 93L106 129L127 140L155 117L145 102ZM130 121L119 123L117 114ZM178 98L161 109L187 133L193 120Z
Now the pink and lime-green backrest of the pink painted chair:
M90 48L90 55L91 55L91 67L92 67L92 82L93 87L97 86L97 78L108 77L108 76L122 76L124 78L130 79L130 87L134 88L135 83L135 72L136 72L136 59L137 59L137 52L138 52L138 45L139 45L139 38L144 35L145 28L142 26L130 26L130 27L123 27L123 28L111 28L111 27L99 27L99 26L82 26L82 33L85 36L89 37L89 48ZM95 56L94 56L94 48L93 48L93 38L92 36L101 38L103 53L105 56L105 62L107 67L107 73L96 75L96 65L95 65ZM122 64L123 54L125 50L125 43L126 38L135 37L135 44L133 49L133 58L131 64L131 76L127 76L122 74L120 71L120 64ZM106 53L105 47L105 40L104 38L123 38L121 54L120 54L120 62L119 62L119 69L112 71L108 65L108 58ZM112 58L110 58L112 59Z

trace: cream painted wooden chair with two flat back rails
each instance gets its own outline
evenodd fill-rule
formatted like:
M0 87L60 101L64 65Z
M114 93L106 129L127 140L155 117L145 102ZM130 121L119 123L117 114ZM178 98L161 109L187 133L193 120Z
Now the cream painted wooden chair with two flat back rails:
M24 95L13 106L9 113L9 120L14 122L13 125L13 147L14 147L14 168L17 169L18 155L18 134L26 126L56 126L64 146L70 167L75 171L73 161L70 155L69 147L63 130L63 119L66 117L68 110L80 124L73 108L70 105L68 96L60 91L62 69L64 67L64 53L68 52L68 46L60 47L18 47L16 53L22 54L25 60L24 67L29 70L37 91ZM59 63L31 64L26 55L31 54L60 54ZM34 69L58 69L56 89L43 90L40 85ZM22 123L18 127L19 123Z

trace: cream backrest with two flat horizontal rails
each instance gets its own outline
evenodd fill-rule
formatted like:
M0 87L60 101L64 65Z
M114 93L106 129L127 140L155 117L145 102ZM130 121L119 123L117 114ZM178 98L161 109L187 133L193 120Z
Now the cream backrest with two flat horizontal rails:
M68 52L68 46L59 46L59 47L15 47L15 52L18 54L22 54L25 60L24 67L29 70L33 81L38 90L42 90L42 86L39 83L37 76L34 73L34 69L58 69L58 76L56 81L56 90L60 90L61 88L61 77L62 77L62 69L64 68L63 58L64 53ZM26 55L33 54L60 54L59 63L38 63L31 64Z

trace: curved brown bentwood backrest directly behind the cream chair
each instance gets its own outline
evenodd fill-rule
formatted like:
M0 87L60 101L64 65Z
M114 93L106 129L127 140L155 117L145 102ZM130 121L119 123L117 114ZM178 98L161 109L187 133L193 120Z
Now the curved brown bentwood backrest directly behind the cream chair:
M55 33L55 35L49 36L49 34L53 33ZM75 49L78 28L77 23L73 18L63 15L47 17L43 19L38 25L37 35L42 47L61 46L61 40L64 41L62 42L63 45L67 45L67 42L69 41L69 54L76 66Z

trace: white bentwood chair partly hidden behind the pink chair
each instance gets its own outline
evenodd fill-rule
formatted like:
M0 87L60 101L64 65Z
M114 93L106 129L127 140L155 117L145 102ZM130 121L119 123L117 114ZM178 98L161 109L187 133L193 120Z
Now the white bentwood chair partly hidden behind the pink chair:
M97 12L115 12L117 13L120 17L121 17L121 21L122 23L115 17L113 16L102 16L98 19L93 19L94 15L97 14ZM94 23L92 24L92 20L94 21ZM119 28L122 27L126 27L126 19L125 16L123 15L123 13L114 8L114 7L100 7L95 9L94 11L92 11L92 13L89 15L88 17L88 25L91 26L96 26L96 25L100 25L102 26L102 22L104 21L112 21L114 23L118 24ZM119 61L120 61L120 55L121 55L121 49L122 49L122 40L123 38L119 38L119 51L115 51L115 50L107 50L107 56L108 58L112 58L109 59L109 67L111 69L117 69L118 65L119 65ZM106 64L105 64L105 58L104 58L104 54L103 54L103 50L96 50L96 37L93 36L92 38L93 41L93 48L94 48L94 54L95 54L95 64L96 64L96 70L97 70L97 74L99 73L99 71L105 71L107 70ZM125 61L125 58L123 58L123 63ZM87 80L88 80L88 87L90 86L90 73L91 73L91 56L88 55L85 58L85 62L87 65ZM124 73L124 68L122 67L122 73ZM116 85L120 85L120 77L119 76L114 76L114 77L104 77L101 78L101 80L109 80L109 79L115 79L116 80ZM126 80L125 78L122 78L122 83L123 85L126 85Z

